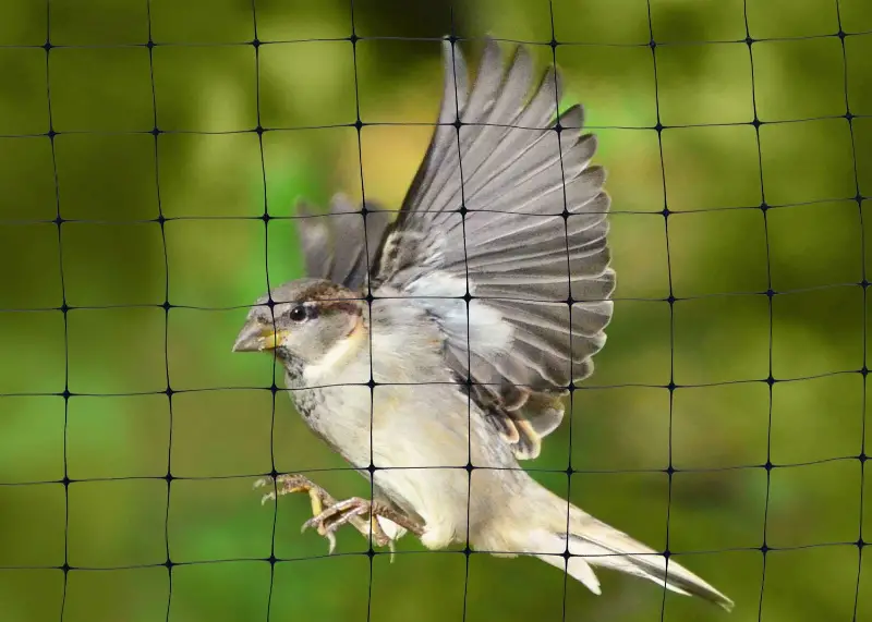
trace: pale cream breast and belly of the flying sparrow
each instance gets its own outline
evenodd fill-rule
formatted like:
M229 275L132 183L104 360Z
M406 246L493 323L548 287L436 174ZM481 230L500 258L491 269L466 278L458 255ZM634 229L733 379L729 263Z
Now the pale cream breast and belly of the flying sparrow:
M470 416L445 367L438 329L404 321L412 314L422 319L408 301L374 303L368 334L337 343L310 366L313 388L294 399L318 436L364 474L372 464L375 486L424 520L422 541L440 547L465 533L470 425L482 417Z

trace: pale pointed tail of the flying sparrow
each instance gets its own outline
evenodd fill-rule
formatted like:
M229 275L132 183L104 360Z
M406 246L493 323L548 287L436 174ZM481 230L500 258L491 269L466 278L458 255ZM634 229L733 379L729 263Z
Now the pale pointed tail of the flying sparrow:
M567 523L567 502L560 499L559 504L562 507L562 527L556 527L556 519L538 522L552 528L537 527L528 532L523 536L526 541L520 550L526 550L529 554L564 570L594 594L600 594L600 580L591 566L602 566L647 578L678 594L699 596L727 611L732 609L732 600L675 560L667 559L663 553L573 505L569 505ZM546 507L554 508L550 503Z

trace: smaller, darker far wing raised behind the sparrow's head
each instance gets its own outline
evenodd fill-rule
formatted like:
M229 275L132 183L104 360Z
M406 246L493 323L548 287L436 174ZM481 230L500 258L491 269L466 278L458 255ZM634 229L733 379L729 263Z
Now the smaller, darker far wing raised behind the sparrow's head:
M367 269L392 218L391 212L368 202L366 210L364 216L343 195L334 196L328 214L315 214L304 203L298 205L296 231L307 277L327 279L351 291L366 288Z

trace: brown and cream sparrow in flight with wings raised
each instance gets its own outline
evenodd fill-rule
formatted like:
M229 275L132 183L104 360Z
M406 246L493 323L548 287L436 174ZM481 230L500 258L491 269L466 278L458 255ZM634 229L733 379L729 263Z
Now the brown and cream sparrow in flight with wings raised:
M528 47L505 54L488 38L473 82L458 41L441 48L438 120L399 209L341 194L327 214L302 203L305 277L255 301L233 345L275 356L303 422L372 499L337 501L299 474L256 486L275 487L265 499L308 492L303 528L331 552L344 524L380 546L411 532L428 549L538 558L597 595L604 568L731 610L521 466L606 342L606 172L584 108L560 111L556 64L538 74Z

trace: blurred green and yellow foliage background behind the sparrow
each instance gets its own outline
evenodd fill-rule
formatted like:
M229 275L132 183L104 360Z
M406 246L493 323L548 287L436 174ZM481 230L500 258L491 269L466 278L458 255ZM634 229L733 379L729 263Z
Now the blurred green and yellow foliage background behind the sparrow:
M656 586L606 572L595 597L536 560L473 554L467 566L410 538L392 564L382 554L371 564L353 532L326 558L325 541L299 533L305 498L261 507L252 490L272 464L344 465L283 394L274 408L252 389L269 386L268 357L230 352L267 269L272 284L301 275L291 220L234 217L290 216L299 195L358 199L361 170L367 198L397 206L431 133L402 123L435 120L439 44L361 40L355 96L352 46L329 40L351 35L347 0L257 0L259 75L244 45L249 0L152 0L153 38L171 44L153 50L153 101L146 0L47 7L0 4L0 620L661 620ZM835 0L749 1L751 35L774 39L752 47L753 87L740 0L651 0L656 82L645 0L552 7L557 40L585 44L556 54L610 173L619 286L571 425L528 466L571 460L571 481L536 477L571 485L576 503L656 548L668 533L677 559L737 602L727 617L669 595L665 620L872 619L872 556L860 562L851 544L862 523L872 539L872 477L856 458L870 432L864 378L850 373L864 365L869 332L858 283L872 269L871 204L851 197L872 194L872 34L862 34L872 5L838 2L843 29L859 33L843 57L839 38L816 37L838 31ZM52 45L71 47L51 50L47 84L49 10ZM354 0L353 21L361 37L432 38L451 32L451 10ZM552 13L547 0L467 0L453 2L453 27L547 42ZM481 40L463 48L474 64ZM544 65L550 48L535 53ZM281 129L263 135L263 162L250 132L258 97L262 125ZM754 101L764 122L798 121L761 126L759 151ZM358 107L365 122L395 125L364 127L360 147L353 127L313 129L352 123ZM155 114L167 132L157 142ZM779 206L765 221L763 200ZM83 220L62 225L62 253L58 209ZM180 218L166 239L159 210ZM92 307L68 314L66 349L61 263L66 303ZM765 291L770 279L786 292L772 324L765 296L723 295ZM670 280L689 298L671 324ZM181 307L166 329L155 306L165 291ZM770 342L772 374L785 380L771 392L751 381L768 375ZM671 404L670 366L676 383L695 386ZM168 375L182 391L171 413ZM65 410L68 380L92 397ZM767 452L778 465L768 487ZM179 478L169 493L168 464ZM348 471L313 477L338 497L366 493ZM766 556L761 605L764 517L778 550ZM180 564L171 581L168 551ZM272 575L257 561L271 551L287 560ZM64 554L104 569L72 571L65 599Z

